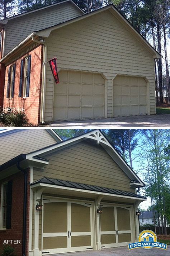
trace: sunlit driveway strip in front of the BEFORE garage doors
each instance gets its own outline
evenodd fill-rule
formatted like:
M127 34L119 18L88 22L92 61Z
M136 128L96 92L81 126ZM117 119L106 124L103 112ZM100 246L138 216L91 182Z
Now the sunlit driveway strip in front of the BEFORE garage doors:
M61 128L116 128L116 127L170 127L170 115L141 115L116 118L101 118L81 121L60 121L45 124L47 127ZM41 125L44 126L44 125Z

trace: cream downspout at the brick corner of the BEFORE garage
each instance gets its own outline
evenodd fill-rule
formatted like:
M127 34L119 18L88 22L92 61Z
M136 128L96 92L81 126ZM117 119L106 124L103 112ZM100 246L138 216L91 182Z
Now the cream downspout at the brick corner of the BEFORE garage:
M41 85L41 108L40 108L40 122L44 123L44 105L45 105L45 91L46 91L46 74L47 74L47 69L46 69L46 62L47 62L47 44L45 43L45 40L36 40L34 38L34 35L32 35L31 39L38 43L38 44L43 44L44 49L43 49L43 70L42 70L42 85Z

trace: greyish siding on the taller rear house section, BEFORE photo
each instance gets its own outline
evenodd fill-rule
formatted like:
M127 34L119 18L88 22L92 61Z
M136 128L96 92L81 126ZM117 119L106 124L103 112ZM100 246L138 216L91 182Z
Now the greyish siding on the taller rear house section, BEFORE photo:
M80 15L81 10L67 2L9 20L5 26L5 54L33 31L57 25Z

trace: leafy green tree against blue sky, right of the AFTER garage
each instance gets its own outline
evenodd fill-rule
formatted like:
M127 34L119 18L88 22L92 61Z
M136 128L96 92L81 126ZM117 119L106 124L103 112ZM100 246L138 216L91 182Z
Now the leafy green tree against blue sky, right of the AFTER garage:
M170 131L146 129L142 130L142 133L145 143L142 149L141 163L146 170L145 190L146 194L151 197L158 216L161 217L162 231L166 235L166 188L169 187L170 180L170 156L165 154L165 148L168 146Z

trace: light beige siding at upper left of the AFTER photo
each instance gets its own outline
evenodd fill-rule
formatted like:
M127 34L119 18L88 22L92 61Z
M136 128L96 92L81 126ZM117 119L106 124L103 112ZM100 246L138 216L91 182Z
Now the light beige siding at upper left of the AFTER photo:
M57 141L44 129L23 129L1 136L0 164L55 143Z

